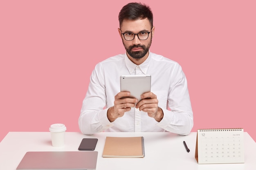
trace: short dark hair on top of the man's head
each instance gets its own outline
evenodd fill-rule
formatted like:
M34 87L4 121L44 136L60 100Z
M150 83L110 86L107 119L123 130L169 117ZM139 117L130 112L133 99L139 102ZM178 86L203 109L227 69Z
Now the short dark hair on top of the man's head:
M119 12L119 26L124 20L138 20L148 18L151 28L153 27L153 13L146 4L131 2L126 4Z

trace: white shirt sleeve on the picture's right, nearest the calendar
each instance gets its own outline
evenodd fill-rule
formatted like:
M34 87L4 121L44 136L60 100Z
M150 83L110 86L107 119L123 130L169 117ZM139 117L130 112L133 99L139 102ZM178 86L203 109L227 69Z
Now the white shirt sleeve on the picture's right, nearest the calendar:
M187 80L179 64L174 67L170 78L173 80L168 92L170 110L162 108L164 117L157 126L168 132L188 135L193 128L193 112Z

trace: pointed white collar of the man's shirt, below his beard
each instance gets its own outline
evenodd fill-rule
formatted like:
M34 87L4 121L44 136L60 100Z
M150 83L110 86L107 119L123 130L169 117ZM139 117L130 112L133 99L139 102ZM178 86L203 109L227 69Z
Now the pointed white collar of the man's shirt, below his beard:
M149 62L150 62L150 51L148 51L148 58L139 65L139 68L141 69L142 73L146 74L148 71L148 66L149 66ZM127 56L127 53L125 53L125 57L124 57L124 61L126 63L126 67L128 68L130 74L132 74L135 71L135 68L138 66L136 64L134 64Z

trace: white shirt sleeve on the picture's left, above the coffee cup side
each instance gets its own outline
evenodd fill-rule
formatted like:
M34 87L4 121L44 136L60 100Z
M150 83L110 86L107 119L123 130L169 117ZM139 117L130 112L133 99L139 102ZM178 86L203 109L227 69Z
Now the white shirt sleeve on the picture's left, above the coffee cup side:
M85 135L102 132L113 126L107 117L108 108L105 108L107 99L102 72L98 64L92 71L88 91L83 99L79 129Z

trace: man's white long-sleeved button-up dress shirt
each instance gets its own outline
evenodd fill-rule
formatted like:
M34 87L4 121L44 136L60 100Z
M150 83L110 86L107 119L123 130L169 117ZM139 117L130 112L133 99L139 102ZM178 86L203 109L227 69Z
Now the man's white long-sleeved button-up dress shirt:
M108 108L120 92L121 75L151 75L151 92L157 95L164 117L158 122L147 113L131 108L123 117L110 122ZM83 134L97 132L173 132L188 135L193 127L193 112L186 77L181 66L162 55L150 53L145 62L134 64L126 54L99 62L92 71L83 100L79 128Z

